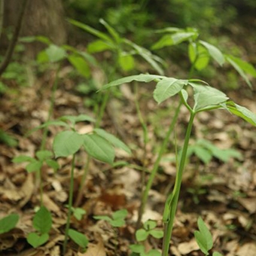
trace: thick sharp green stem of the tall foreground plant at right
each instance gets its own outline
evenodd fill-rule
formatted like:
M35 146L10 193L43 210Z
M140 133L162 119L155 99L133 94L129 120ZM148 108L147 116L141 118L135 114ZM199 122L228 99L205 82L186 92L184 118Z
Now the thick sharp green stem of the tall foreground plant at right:
M172 236L172 227L173 227L175 213L176 213L176 209L177 209L177 205L178 205L178 196L179 196L179 193L181 190L182 174L183 174L184 165L185 165L186 157L187 157L187 147L188 147L188 143L190 140L190 134L191 134L195 114L196 113L194 111L190 111L190 120L189 120L189 123L187 126L187 131L186 131L186 135L185 135L185 139L184 139L184 145L183 145L183 149L182 149L182 153L181 153L181 160L180 160L180 163L178 166L178 172L177 172L176 178L175 178L175 186L172 191L173 199L172 199L172 202L170 205L170 210L169 210L169 221L167 221L166 224L164 224L165 227L164 227L164 236L163 236L162 256L169 255L169 253L168 253L169 252L169 243L170 243L171 236Z

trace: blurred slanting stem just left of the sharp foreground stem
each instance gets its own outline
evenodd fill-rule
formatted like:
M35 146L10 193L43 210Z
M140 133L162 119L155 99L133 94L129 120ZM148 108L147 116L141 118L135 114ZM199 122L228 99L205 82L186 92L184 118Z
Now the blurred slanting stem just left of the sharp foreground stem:
M140 209L139 209L139 215L138 215L138 220L137 220L137 223L136 223L136 227L139 227L140 224L141 224L142 215L145 212L145 205L148 201L149 190L151 189L153 181L154 181L154 177L157 174L157 169L158 169L158 166L160 164L160 160L163 157L163 153L166 151L167 143L169 142L169 136L171 135L171 133L174 129L175 123L177 122L178 114L179 114L179 111L181 109L181 105L182 105L182 102L180 101L178 103L178 107L175 110L175 115L172 118L172 122L169 125L169 130L166 133L166 136L163 140L160 151L158 152L157 160L154 162L154 166L153 166L153 169L151 171L151 175L148 178L148 183L146 184L145 190L144 190L143 195L142 195L142 203L141 203L141 206L140 206Z

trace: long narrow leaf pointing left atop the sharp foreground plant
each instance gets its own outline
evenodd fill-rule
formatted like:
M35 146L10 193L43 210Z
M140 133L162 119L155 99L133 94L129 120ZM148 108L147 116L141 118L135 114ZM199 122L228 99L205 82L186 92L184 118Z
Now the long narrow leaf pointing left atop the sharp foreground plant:
M163 77L162 75L145 75L145 74L131 75L129 77L120 78L120 79L111 81L110 83L105 84L100 90L106 90L109 87L115 87L117 85L130 83L132 81L148 83L148 82L154 81L155 79L162 79L162 78L166 78L166 77Z

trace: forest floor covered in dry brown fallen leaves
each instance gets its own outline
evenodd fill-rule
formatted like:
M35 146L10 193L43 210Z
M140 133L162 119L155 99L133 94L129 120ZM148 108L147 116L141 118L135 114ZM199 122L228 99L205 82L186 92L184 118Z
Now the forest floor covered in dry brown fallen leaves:
M84 107L84 96L74 89L72 79L66 78L65 69L60 73L59 88L53 117L65 114L89 114L93 111ZM0 145L0 219L16 212L20 215L17 227L0 235L0 255L60 255L66 224L66 203L69 195L69 181L72 158L58 159L59 170L44 166L42 169L43 203L53 216L50 239L39 248L32 248L26 236L33 231L32 218L35 208L40 205L38 184L35 173L28 173L25 163L12 163L19 155L35 156L41 144L41 130L25 136L29 130L41 125L47 119L50 106L50 88L54 72L35 81L33 87L19 87L10 84L12 93L5 93L0 100L0 123L18 141L16 147ZM153 87L152 87L153 88ZM139 103L142 116L147 120L149 142L143 145L142 126L136 114L134 92L130 86L122 87L122 98L111 99L111 109L105 114L102 127L122 137L133 150L130 156L117 151L116 161L130 165L112 167L96 160L90 161L90 172L84 187L79 207L87 213L81 221L72 217L71 225L89 239L86 252L79 252L77 245L70 242L66 255L105 256L129 255L129 245L135 241L135 227L142 190L142 171L133 166L145 166L151 170L156 159L160 142L168 128L174 111L175 100L157 106L150 96L151 87L139 89ZM256 113L253 96L241 97L241 91L228 93L239 105L245 105ZM89 96L87 96L89 97ZM171 113L171 114L170 114ZM188 114L181 108L181 117L175 128L178 148L181 148ZM47 149L51 150L53 136L62 128L50 126ZM78 123L80 133L93 129L90 123ZM117 133L118 131L118 133ZM160 163L160 169L150 197L143 221L157 221L162 228L162 212L166 194L175 181L175 136L171 136L169 148ZM226 111L201 113L198 115L190 144L207 139L221 150L230 148L239 152L240 157L230 157L226 162L216 157L205 164L192 154L184 171L181 196L172 235L171 251L175 256L200 256L194 230L197 218L201 216L211 230L214 251L225 256L256 255L256 136L251 125L233 117ZM224 152L224 151L223 151ZM79 151L75 163L75 197L84 172L87 156ZM120 228L111 227L106 221L96 221L94 215L111 215L118 209L127 209L126 224ZM161 248L161 239L148 239L145 248Z

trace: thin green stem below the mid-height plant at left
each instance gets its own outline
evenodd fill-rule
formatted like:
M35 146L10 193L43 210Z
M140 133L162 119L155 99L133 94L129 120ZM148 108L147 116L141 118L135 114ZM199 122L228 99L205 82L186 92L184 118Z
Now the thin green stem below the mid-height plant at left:
M66 246L67 246L67 242L68 242L70 218L71 218L71 214L72 214L72 202L73 202L73 192L74 192L74 169L75 169L75 154L73 154L73 157L72 157L72 169L71 169L70 185L69 185L69 212L68 212L66 229L65 229L65 239L64 239L64 243L63 243L63 255L66 254Z

